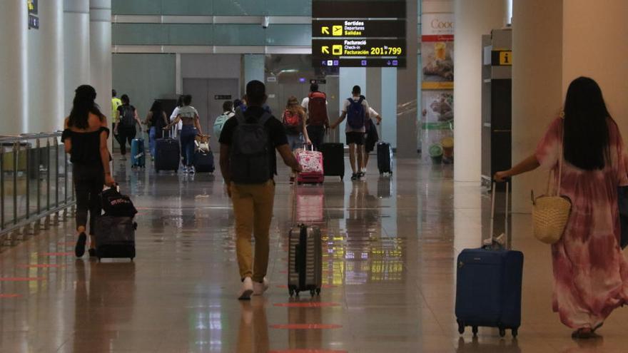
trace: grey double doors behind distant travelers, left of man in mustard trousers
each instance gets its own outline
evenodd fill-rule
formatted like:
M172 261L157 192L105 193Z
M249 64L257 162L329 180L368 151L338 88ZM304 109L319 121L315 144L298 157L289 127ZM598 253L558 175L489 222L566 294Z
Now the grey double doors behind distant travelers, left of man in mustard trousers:
M203 133L211 135L210 146L218 151L218 137L213 123L223 113L223 103L238 98L238 78L183 78L183 94L192 95Z

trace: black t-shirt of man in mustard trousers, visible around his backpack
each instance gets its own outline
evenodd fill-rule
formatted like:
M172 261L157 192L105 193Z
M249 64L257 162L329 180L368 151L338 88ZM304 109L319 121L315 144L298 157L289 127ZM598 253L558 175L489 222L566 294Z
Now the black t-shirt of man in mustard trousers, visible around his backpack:
M248 107L244 112L244 117L247 122L253 122L265 113L264 109L261 107ZM238 118L235 116L231 119L228 119L223 126L223 131L221 132L221 138L218 142L231 146L231 141L233 140L233 132L238 126ZM268 158L270 158L270 178L274 178L277 175L277 156L275 155L275 148L280 145L287 145L288 138L285 136L285 130L283 129L283 124L278 121L274 116L271 116L268 121L266 121L264 127L266 128L266 132L268 133Z

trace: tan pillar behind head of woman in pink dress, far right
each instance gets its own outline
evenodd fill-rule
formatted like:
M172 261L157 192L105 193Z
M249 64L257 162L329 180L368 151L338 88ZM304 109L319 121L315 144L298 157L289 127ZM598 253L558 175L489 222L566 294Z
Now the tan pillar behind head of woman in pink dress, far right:
M562 88L578 76L593 78L611 116L628 138L628 1L562 1Z

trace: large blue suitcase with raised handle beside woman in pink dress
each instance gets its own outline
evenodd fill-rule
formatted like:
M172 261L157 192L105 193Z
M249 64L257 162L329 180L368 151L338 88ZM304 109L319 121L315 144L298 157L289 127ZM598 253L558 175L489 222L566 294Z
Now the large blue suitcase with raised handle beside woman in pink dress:
M508 232L508 193L506 184L506 230L497 237L505 240ZM495 218L495 184L491 204L491 232ZM477 336L477 327L497 327L500 336L506 329L517 337L521 325L521 287L523 276L523 253L505 250L503 245L491 239L492 245L479 249L465 249L457 258L456 318L458 332L472 327ZM497 247L497 250L495 249Z

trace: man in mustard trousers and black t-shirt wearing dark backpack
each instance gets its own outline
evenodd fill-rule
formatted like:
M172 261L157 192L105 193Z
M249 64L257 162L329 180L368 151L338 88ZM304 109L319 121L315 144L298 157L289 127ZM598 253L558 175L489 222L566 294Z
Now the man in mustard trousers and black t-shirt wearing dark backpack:
M236 110L236 116L223 126L221 172L227 194L233 202L236 217L236 254L242 285L238 299L263 295L268 290L270 220L273 218L277 160L275 149L283 162L295 172L301 168L288 146L283 124L265 111L265 86L260 81L246 85L248 107ZM255 237L255 257L251 249Z

